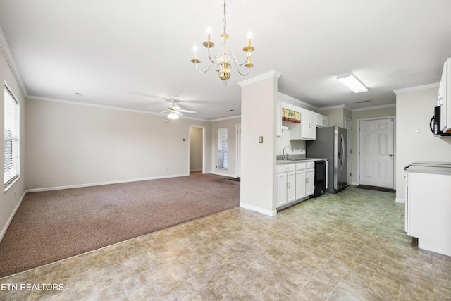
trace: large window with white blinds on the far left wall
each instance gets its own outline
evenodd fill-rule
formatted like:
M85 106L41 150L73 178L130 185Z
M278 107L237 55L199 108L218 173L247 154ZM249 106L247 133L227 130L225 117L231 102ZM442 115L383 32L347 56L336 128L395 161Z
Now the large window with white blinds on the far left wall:
M4 185L11 185L20 174L20 128L19 102L5 86L5 161L4 161Z

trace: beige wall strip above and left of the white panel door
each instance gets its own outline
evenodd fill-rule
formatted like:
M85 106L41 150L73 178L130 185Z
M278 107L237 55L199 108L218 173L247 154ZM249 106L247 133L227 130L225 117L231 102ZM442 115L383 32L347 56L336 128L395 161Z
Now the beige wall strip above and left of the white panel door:
M384 118L393 117L396 115L396 106L388 106L382 108L369 108L365 110L354 110L352 111L352 177L351 184L359 185L359 160L358 151L359 147L357 145L357 136L359 135L359 125L357 124L359 120L370 119L370 118ZM395 135L396 143L396 135ZM396 161L396 157L395 157ZM396 185L395 185L396 186Z

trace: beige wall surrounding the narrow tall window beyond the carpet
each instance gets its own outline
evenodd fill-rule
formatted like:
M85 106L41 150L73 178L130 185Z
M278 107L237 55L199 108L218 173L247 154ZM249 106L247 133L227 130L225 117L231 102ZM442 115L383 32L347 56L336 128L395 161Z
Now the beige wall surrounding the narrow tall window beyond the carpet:
M211 169L213 173L223 176L237 176L237 125L241 118L227 118L211 122ZM227 128L228 135L228 168L219 169L218 166L218 129Z

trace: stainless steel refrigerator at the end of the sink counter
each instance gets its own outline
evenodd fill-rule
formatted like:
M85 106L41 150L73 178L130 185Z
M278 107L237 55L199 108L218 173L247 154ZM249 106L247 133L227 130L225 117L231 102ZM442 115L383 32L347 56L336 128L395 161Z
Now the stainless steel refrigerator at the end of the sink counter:
M307 141L306 156L328 159L328 188L326 192L336 193L347 185L347 130L338 126L316 128L316 140Z

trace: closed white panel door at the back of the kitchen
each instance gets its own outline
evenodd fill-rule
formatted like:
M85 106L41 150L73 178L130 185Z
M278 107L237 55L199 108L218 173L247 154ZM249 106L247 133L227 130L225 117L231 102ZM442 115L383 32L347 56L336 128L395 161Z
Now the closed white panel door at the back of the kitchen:
M359 184L393 188L393 118L360 121Z

